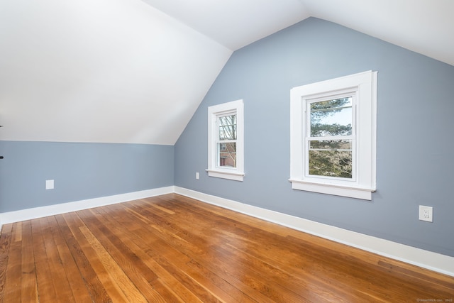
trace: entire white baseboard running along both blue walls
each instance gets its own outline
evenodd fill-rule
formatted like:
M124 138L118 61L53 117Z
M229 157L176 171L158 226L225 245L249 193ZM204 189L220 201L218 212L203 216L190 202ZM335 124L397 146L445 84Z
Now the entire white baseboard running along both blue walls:
M3 224L9 224L18 221L26 221L42 218L45 216L53 216L55 214L65 214L70 211L91 209L98 206L155 197L161 194L170 194L173 192L182 194L186 197L197 199L201 202L206 202L209 204L221 206L226 209L231 209L233 211L238 211L242 214L248 214L259 219L294 228L298 231L311 233L315 236L327 238L338 243L343 243L348 246L367 250L371 253L377 253L378 255L383 255L387 258L400 260L405 263L417 265L421 268L427 268L428 270L441 272L445 275L454 277L454 258L448 255L433 253L421 248L406 246L404 244L384 240L382 238L367 236L365 234L348 231L343 228L302 219L297 216L290 216L288 214L282 214L277 211L270 211L268 209L262 209L257 206L251 206L233 200L212 196L210 194L196 192L191 189L174 186L148 189L140 192L130 192L126 194L116 194L114 196L87 199L77 202L35 207L33 209L9 211L0 214L0 226L2 226Z

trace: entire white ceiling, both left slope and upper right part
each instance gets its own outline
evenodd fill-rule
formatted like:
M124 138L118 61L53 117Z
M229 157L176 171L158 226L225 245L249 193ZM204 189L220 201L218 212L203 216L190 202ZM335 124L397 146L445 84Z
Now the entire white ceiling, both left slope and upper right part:
M452 0L2 0L1 140L173 145L231 53L309 16L454 65Z

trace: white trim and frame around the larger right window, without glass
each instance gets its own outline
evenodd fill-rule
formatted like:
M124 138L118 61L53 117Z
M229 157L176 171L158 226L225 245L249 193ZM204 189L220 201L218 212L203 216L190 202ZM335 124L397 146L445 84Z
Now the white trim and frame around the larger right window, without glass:
M356 95L355 180L306 175L306 104L310 99L343 92ZM355 75L294 87L290 99L290 179L293 189L372 199L376 190L377 72Z

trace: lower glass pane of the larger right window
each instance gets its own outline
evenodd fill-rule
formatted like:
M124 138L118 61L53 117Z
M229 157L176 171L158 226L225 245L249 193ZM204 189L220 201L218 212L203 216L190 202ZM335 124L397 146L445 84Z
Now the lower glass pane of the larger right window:
M310 141L309 175L351 179L352 141Z

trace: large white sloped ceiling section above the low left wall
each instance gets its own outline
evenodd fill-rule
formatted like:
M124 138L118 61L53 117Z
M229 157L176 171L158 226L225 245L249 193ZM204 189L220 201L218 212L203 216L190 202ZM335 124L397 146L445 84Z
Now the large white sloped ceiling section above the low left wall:
M231 53L140 0L2 0L0 138L173 145Z

